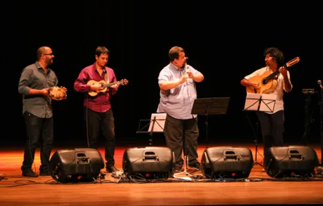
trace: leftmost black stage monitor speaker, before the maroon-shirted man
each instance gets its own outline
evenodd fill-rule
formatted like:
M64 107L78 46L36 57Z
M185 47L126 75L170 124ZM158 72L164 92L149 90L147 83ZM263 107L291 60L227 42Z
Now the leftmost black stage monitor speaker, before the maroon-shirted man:
M90 148L59 150L50 158L50 175L61 183L92 182L97 179L104 160L99 151Z

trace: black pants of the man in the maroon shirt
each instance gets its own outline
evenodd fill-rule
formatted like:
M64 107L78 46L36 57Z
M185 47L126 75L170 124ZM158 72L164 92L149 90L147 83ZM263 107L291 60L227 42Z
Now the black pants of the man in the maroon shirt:
M115 165L115 119L112 109L106 112L95 112L84 107L84 114L88 130L88 146L97 149L97 138L102 132L102 135L106 138L106 167Z

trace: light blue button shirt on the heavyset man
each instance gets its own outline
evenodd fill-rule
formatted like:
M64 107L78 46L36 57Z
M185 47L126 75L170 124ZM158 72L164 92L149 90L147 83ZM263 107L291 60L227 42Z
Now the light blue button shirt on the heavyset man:
M193 74L198 74L190 65L187 65ZM158 83L162 81L176 81L185 74L184 69L179 69L173 63L169 63L159 72ZM160 102L157 112L165 112L176 119L192 119L197 115L190 114L194 100L197 98L195 81L187 79L186 82L171 90L160 90Z

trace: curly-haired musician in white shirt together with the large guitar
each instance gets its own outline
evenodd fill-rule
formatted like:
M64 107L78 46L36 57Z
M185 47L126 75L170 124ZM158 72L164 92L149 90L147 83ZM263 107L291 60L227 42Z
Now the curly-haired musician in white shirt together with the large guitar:
M264 50L266 67L245 76L241 84L248 93L277 94L273 112L257 112L262 129L264 155L270 147L282 146L284 133L284 91L291 92L288 67L300 61L297 57L284 64L284 54L277 48Z

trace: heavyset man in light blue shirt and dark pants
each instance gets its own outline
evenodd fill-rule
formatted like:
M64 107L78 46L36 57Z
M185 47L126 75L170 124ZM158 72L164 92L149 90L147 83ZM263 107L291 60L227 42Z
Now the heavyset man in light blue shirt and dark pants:
M204 80L201 72L186 64L184 49L178 46L168 52L170 63L161 70L158 77L160 103L157 112L165 112L164 134L166 144L175 154L174 172L181 172L184 160L182 150L188 158L188 165L199 169L197 161L197 138L199 129L197 115L190 114L197 98L195 82Z

